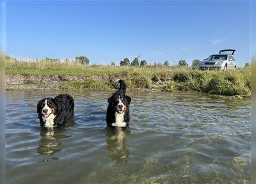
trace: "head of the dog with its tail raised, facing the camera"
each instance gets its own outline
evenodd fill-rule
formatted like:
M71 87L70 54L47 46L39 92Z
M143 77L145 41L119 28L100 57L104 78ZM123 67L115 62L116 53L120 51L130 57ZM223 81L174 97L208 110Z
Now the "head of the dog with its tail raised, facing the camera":
M131 103L131 97L123 93L117 92L117 93L114 93L112 97L108 99L108 102L114 112L122 114L128 109Z

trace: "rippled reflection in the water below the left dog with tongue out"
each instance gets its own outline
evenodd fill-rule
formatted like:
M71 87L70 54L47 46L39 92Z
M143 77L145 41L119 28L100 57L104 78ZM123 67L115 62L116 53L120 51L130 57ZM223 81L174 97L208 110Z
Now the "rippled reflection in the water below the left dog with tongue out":
M66 125L53 128L41 127L41 139L39 141L39 147L37 147L37 153L39 155L53 156L62 151L60 149L60 145L62 145L60 140L71 137L71 135L65 135L64 133L68 131L68 127L74 126L74 124L74 118L71 118Z

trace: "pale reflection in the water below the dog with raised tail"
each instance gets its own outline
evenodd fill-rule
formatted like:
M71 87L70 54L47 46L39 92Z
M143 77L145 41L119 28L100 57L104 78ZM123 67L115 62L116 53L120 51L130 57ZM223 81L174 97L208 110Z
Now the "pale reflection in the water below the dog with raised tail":
M106 128L106 144L109 156L116 163L128 162L129 150L125 147L125 139L131 133L128 128Z

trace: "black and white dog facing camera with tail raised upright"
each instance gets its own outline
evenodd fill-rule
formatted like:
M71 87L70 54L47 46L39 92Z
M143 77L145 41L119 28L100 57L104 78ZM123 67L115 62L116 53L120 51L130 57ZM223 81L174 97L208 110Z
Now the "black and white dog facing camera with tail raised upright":
M120 83L119 90L108 98L108 109L106 112L106 123L109 127L127 127L129 124L129 105L131 97L125 95L127 86L123 80Z

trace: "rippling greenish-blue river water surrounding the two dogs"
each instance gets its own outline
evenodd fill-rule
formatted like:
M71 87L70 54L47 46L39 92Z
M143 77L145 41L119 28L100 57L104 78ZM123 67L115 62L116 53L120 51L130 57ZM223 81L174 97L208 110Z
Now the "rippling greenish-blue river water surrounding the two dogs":
M58 91L6 91L7 183L249 183L249 99L127 91L130 127L112 131L111 92L66 93L75 124L46 129L36 104Z

